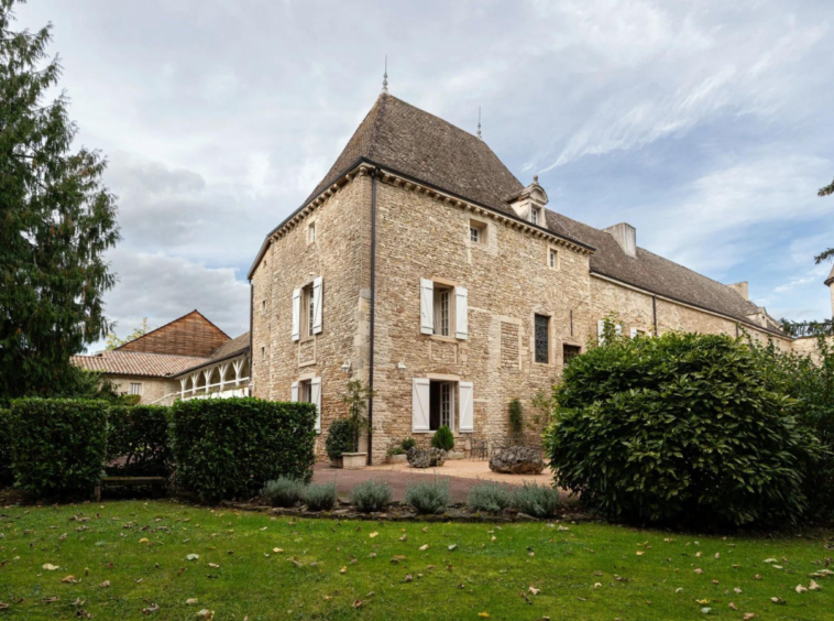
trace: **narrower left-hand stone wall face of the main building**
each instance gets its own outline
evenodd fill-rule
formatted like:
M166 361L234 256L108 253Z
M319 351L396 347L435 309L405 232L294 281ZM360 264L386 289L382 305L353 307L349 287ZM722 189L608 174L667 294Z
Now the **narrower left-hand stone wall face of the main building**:
M289 401L292 384L321 378L321 439L341 401L349 374L367 377L367 283L371 181L356 176L283 237L273 241L252 275L253 396ZM316 241L308 226L316 222ZM322 331L292 340L293 291L322 277ZM323 442L319 442L323 456Z

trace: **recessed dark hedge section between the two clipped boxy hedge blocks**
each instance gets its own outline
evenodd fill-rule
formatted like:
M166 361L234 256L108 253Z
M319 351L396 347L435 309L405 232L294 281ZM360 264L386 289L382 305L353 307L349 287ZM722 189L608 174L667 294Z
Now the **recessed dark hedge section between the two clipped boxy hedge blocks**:
M167 477L173 467L171 408L117 405L108 415L107 473Z

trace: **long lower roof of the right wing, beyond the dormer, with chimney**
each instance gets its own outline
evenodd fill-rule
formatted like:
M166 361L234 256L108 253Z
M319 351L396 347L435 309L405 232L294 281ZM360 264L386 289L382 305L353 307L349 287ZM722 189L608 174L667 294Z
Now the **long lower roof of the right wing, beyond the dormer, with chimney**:
M654 252L638 247L637 257L628 257L614 237L603 230L553 211L547 213L547 224L553 230L577 237L596 248L591 255L592 272L746 324L753 323L747 315L759 312L758 306L727 285ZM775 329L770 331L781 334Z

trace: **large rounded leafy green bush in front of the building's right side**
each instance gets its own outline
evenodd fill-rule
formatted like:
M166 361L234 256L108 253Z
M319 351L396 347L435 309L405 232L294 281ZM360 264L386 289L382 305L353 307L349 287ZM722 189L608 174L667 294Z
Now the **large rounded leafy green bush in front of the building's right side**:
M819 442L755 350L725 336L612 340L571 361L546 447L556 482L614 518L794 521Z

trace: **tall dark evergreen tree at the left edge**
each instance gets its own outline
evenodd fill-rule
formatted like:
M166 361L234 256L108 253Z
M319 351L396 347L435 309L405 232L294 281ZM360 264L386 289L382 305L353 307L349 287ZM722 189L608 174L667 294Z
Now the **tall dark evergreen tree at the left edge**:
M103 253L119 240L105 159L73 150L66 96L47 100L52 25L10 30L13 6L0 0L0 400L78 385L69 358L109 331Z

